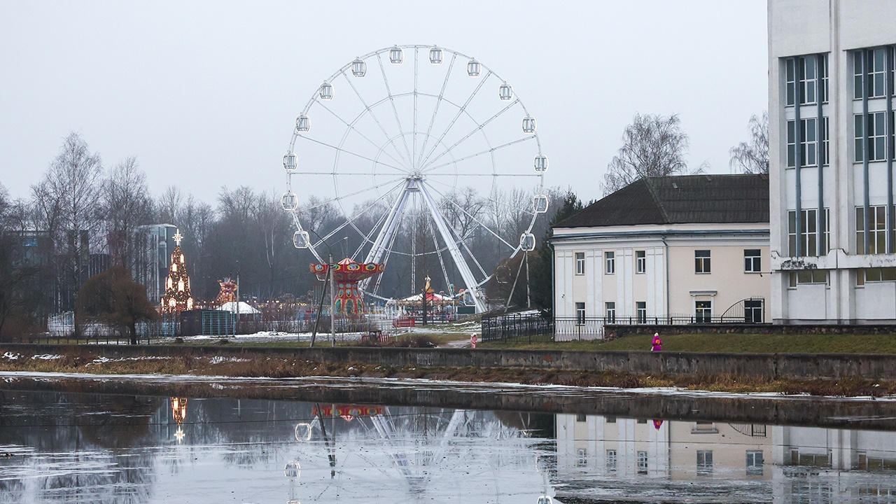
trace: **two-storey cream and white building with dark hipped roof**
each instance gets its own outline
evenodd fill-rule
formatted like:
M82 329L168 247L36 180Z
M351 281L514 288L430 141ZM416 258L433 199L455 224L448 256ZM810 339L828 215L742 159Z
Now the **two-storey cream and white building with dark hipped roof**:
M760 175L642 178L557 223L556 337L614 321L765 321L768 191Z

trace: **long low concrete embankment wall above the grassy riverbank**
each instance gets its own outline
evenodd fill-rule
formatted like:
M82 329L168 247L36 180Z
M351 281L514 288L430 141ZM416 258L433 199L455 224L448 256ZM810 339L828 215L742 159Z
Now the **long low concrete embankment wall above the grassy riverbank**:
M23 357L46 353L103 356L240 356L301 359L314 362L357 362L403 368L529 368L598 370L637 374L737 375L755 378L896 377L896 355L694 352L563 352L485 349L409 349L364 347L258 348L230 345L47 345L5 344L4 352Z

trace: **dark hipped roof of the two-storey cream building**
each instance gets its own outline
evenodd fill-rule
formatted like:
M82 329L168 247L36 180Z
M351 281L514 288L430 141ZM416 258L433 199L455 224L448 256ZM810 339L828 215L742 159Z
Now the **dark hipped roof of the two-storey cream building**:
M554 227L694 222L769 222L769 178L765 175L642 178Z

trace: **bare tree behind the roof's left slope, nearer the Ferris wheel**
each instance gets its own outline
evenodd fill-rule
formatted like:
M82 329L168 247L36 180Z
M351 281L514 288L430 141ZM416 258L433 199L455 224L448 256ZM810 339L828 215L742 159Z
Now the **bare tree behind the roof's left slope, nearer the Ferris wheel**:
M604 175L605 196L639 178L687 173L688 138L677 114L635 114L622 138L623 145Z

